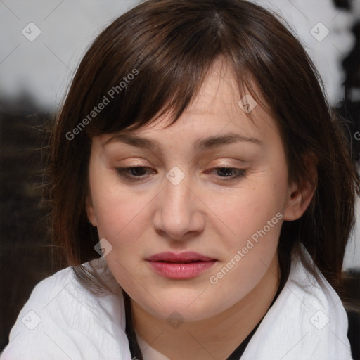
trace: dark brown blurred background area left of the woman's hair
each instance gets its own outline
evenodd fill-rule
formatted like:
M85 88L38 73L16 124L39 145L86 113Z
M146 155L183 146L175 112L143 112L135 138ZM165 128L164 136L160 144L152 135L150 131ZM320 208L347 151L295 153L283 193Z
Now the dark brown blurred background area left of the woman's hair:
M41 201L46 132L52 115L23 95L0 102L0 351L34 285L60 269Z

